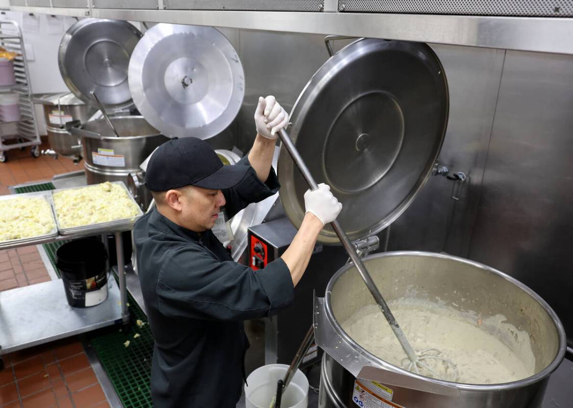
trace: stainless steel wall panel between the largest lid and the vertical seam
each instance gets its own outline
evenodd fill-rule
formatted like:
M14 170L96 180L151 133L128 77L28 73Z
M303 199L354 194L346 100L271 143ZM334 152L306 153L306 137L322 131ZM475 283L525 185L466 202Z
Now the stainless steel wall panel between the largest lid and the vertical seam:
M439 161L452 172L465 172L468 179L461 183L431 176L393 223L390 249L467 256L505 52L432 47L444 65L450 92L448 131Z

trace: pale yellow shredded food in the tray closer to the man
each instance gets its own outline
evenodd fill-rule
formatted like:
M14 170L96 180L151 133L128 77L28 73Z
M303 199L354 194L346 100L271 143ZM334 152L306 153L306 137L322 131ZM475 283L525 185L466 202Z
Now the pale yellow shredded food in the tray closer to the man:
M110 182L60 191L53 198L62 228L115 221L139 214L138 206L125 190Z

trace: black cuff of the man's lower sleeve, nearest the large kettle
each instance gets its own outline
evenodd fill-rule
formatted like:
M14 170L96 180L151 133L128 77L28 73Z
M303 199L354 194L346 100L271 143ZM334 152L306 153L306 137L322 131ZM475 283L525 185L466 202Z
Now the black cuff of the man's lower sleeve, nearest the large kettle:
M254 276L269 298L268 316L275 315L281 308L291 305L295 300L291 271L281 258L270 262L264 269L256 270Z

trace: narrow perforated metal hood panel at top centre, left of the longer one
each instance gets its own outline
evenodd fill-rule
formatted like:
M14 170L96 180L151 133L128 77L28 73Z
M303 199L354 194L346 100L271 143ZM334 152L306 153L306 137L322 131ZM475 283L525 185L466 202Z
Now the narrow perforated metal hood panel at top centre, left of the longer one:
M323 0L163 0L167 10L323 11Z

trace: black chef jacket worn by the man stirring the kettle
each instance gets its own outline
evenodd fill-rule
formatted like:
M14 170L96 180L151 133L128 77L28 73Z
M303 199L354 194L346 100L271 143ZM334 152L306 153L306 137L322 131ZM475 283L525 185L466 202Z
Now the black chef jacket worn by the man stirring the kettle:
M245 157L235 166L250 166ZM276 193L271 169L262 183L251 167L223 190L232 217ZM235 407L249 347L243 321L270 316L293 302L291 274L280 258L254 271L233 262L211 230L198 234L154 209L134 230L139 281L155 346L155 408Z

